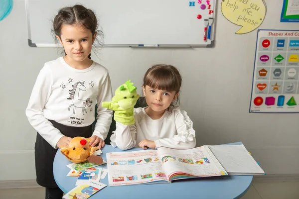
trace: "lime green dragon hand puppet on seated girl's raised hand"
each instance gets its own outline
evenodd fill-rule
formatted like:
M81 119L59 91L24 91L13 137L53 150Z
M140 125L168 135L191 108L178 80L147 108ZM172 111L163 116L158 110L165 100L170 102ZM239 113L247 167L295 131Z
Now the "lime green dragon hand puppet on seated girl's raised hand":
M115 91L115 96L111 101L103 101L102 106L114 110L114 120L124 125L135 123L134 106L139 99L137 88L133 86L131 80L121 85Z

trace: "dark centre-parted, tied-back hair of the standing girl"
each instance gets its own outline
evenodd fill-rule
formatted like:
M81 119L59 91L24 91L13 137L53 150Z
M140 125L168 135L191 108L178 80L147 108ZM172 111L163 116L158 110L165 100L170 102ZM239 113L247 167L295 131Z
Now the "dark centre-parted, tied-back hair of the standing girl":
M98 30L98 19L95 13L83 5L76 4L72 7L61 8L54 17L52 33L55 36L56 43L58 43L56 35L60 38L62 25L73 24L79 24L86 30L90 30L92 35L97 33L97 36L104 36L103 32ZM97 38L96 41L100 43ZM88 58L91 58L90 54Z

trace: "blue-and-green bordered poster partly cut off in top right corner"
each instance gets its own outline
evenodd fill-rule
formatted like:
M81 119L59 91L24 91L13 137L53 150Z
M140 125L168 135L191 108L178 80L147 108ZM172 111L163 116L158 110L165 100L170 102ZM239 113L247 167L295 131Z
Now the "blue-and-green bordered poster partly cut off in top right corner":
M281 22L299 22L299 0L284 0Z

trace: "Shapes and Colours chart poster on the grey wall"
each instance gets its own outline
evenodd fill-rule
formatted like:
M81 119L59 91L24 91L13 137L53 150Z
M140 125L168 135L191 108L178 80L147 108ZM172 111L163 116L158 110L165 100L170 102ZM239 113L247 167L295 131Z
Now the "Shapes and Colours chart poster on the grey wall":
M299 112L299 30L258 30L249 112Z

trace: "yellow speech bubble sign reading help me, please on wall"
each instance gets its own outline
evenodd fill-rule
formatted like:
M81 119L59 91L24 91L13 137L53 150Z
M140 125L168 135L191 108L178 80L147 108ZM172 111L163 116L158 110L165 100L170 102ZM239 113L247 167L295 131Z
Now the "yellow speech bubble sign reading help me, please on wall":
M266 15L264 0L222 0L221 12L230 22L241 26L236 34L246 34L257 29Z

